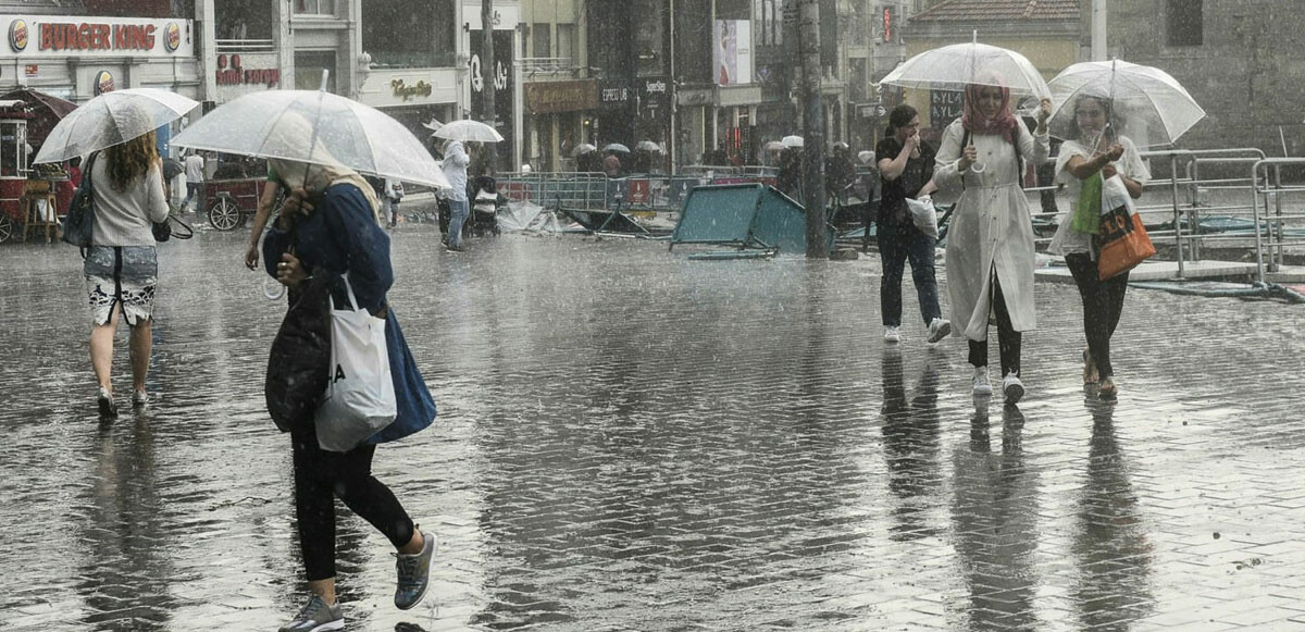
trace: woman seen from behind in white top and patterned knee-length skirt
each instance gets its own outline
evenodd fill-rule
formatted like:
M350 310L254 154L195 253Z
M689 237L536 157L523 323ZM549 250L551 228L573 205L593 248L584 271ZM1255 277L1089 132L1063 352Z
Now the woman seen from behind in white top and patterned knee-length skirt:
M99 413L117 414L112 376L114 333L124 316L132 328L132 403L146 403L145 376L150 368L150 323L158 256L153 222L167 219L163 171L154 132L93 154L87 175L94 183L95 219L91 247L82 272L94 328L90 362L99 383Z

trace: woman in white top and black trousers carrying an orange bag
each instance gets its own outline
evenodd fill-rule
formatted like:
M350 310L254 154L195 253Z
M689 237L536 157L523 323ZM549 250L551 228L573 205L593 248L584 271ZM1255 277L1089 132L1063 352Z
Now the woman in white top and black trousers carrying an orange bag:
M1083 383L1099 384L1098 394L1109 400L1118 392L1114 367L1111 364L1111 336L1124 312L1129 273L1101 281L1096 269L1098 247L1092 239L1095 231L1090 230L1090 221L1100 218L1101 200L1098 195L1095 208L1081 209L1081 204L1092 204L1082 200L1081 193L1083 182L1098 178L1109 180L1117 175L1129 196L1138 198L1151 172L1133 141L1114 133L1109 124L1113 120L1109 99L1079 97L1073 111L1078 137L1066 140L1056 159L1056 178L1065 183L1071 209L1061 218L1048 252L1065 256L1065 264L1078 285L1078 294L1083 298L1083 332L1087 336ZM1088 222L1075 221L1081 210L1091 213L1084 217Z

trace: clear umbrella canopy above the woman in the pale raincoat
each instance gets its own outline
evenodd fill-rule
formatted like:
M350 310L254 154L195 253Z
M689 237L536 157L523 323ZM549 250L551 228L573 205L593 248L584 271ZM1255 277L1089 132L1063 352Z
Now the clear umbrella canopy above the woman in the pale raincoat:
M893 69L880 84L964 90L968 84L1005 86L1014 94L1051 97L1047 81L1023 55L970 42L924 51Z

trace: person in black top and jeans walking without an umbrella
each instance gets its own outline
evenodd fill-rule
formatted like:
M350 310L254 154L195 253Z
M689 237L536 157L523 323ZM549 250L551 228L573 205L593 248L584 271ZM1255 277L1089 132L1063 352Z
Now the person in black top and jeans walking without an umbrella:
M920 140L920 116L915 108L907 104L893 108L887 137L874 146L881 180L876 235L883 261L880 311L886 342L900 340L902 274L908 259L915 290L920 295L920 315L929 328L929 343L951 333L951 324L942 319L942 308L938 307L938 281L933 272L934 239L915 227L906 205L907 197L927 200L929 193L937 191L933 184L933 148Z

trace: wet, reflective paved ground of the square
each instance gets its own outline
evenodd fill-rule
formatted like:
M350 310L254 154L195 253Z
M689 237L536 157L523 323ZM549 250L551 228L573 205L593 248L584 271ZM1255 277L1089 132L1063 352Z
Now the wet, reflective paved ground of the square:
M108 424L78 257L0 248L0 629L298 610L262 403L283 304L244 239L163 245L154 402ZM440 535L435 584L394 610L388 543L342 512L347 629L1305 629L1298 307L1131 291L1104 405L1074 287L1039 285L1017 410L971 397L959 340L925 350L910 281L885 349L874 259L433 243L402 227L390 299L440 418L375 470Z

